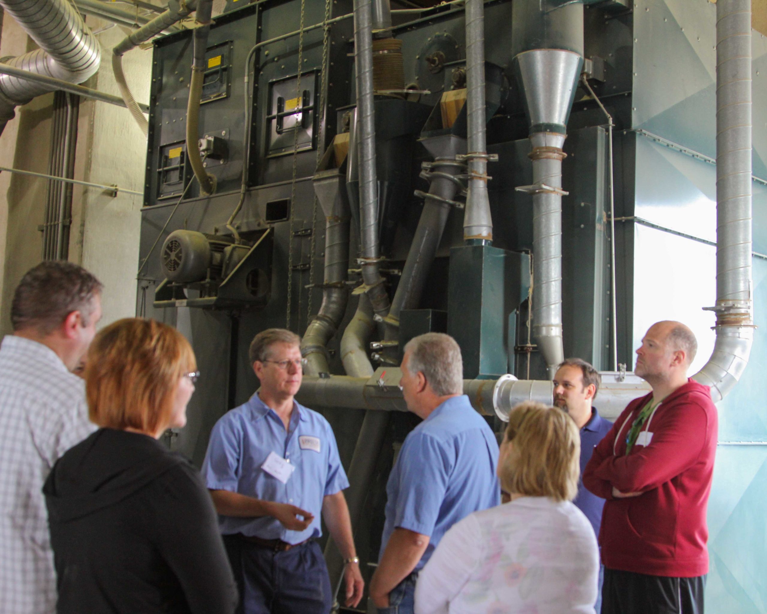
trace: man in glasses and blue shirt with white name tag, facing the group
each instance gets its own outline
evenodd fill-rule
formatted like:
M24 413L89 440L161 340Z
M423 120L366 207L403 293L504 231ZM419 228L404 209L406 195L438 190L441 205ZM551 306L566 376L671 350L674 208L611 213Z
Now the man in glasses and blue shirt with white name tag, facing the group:
M255 336L249 358L261 388L216 423L202 464L242 614L328 614L333 594L314 541L320 513L346 562L346 605L357 606L364 588L333 431L294 400L300 342L282 328Z

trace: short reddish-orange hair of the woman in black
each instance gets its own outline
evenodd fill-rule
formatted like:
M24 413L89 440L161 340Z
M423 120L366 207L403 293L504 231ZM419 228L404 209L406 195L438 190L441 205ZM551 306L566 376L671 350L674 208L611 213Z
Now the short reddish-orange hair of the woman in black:
M117 320L97 333L88 350L88 416L100 427L163 430L179 378L196 368L192 346L176 328L150 319Z

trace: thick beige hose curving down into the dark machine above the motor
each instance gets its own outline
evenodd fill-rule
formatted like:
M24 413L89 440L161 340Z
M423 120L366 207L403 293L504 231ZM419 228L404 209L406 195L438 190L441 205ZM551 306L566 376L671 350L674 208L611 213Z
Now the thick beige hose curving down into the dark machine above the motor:
M212 11L213 0L199 0L193 32L192 79L189 81L189 101L186 104L186 159L197 177L200 190L206 195L216 191L216 176L205 170L199 153L199 101L202 98L202 81L205 79L205 54L208 50Z

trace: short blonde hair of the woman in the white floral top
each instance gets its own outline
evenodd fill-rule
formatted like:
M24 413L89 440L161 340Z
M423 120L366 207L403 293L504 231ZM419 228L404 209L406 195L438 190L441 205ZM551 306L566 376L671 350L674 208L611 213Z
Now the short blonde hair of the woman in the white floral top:
M504 445L512 445L499 467L503 490L528 497L571 501L578 493L581 437L568 414L525 401L509 412Z

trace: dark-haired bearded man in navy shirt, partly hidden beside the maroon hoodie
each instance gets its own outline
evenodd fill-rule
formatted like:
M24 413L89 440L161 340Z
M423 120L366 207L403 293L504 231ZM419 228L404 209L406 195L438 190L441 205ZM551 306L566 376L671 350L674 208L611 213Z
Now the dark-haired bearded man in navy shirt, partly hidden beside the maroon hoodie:
M599 371L588 362L581 358L568 358L557 368L553 383L554 404L570 414L581 431L581 475L583 475L584 467L591 459L594 446L602 440L613 425L611 421L602 418L597 408L591 405L597 396L602 378ZM588 518L598 539L604 499L591 494L584 488L583 482L578 480L578 495L573 503ZM603 576L604 567L600 566L597 602L594 605L597 612L602 606Z

